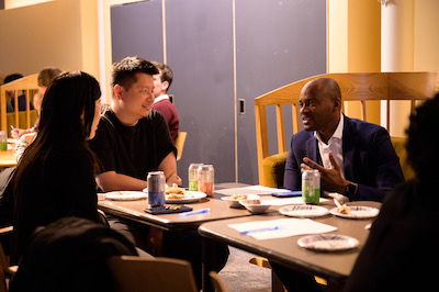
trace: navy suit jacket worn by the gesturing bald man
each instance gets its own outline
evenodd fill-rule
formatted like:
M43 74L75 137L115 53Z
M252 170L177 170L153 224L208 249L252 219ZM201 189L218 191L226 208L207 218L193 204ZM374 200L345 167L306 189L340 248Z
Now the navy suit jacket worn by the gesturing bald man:
M342 156L345 178L359 186L358 200L380 201L404 181L395 149L385 128L344 115ZM308 157L322 165L314 131L301 131L291 138L284 188L302 188L301 164Z

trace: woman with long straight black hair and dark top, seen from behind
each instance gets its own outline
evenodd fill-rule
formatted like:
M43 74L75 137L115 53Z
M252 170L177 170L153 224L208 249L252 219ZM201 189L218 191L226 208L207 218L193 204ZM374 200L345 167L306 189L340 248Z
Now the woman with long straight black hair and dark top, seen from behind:
M47 89L38 134L16 167L13 262L38 226L65 216L103 222L97 209L94 156L86 143L98 126L100 96L98 81L81 71L58 76Z

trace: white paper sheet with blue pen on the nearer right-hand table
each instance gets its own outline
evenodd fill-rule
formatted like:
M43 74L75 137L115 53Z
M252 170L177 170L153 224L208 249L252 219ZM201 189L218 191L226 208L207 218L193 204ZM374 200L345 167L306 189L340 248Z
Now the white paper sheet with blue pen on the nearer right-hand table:
M319 234L337 231L337 227L315 222L309 218L280 218L271 221L255 221L227 225L257 240L283 238L303 234ZM244 236L244 235L243 235Z

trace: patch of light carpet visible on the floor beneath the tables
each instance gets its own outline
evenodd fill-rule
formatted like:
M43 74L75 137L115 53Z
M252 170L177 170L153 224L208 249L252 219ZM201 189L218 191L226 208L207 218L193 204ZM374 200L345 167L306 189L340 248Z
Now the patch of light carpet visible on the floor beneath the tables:
M271 270L249 263L256 255L228 247L230 256L219 276L227 283L230 292L269 292L271 291Z

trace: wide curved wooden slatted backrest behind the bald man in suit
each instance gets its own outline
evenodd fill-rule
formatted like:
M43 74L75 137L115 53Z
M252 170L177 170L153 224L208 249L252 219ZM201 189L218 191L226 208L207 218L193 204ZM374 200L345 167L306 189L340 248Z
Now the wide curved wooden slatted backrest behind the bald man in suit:
M368 121L367 101L386 101L386 127L390 128L391 113L389 104L394 100L410 102L412 112L415 102L431 98L439 90L439 72L357 72L324 74L281 87L255 99L256 139L258 150L259 182L262 180L262 160L270 155L266 106L275 108L278 153L285 151L283 105L291 105L293 134L300 131L299 98L306 82L317 77L335 79L341 89L345 102L356 101L361 104L361 117Z

